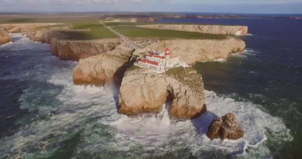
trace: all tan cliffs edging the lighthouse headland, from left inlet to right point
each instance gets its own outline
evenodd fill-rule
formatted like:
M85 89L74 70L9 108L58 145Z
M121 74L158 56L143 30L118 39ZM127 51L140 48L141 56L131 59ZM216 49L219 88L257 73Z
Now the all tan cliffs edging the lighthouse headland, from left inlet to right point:
M166 103L169 116L175 121L197 118L206 112L202 76L193 67L153 73L133 65L134 50L120 39L69 40L62 30L72 29L42 27L30 30L27 37L50 44L52 54L62 60L78 61L73 75L75 84L103 86L113 82L120 87L119 113L129 116L157 114ZM245 43L230 36L222 40L175 39L151 43L145 50L164 50L165 47L179 56L181 62L194 64L242 52Z

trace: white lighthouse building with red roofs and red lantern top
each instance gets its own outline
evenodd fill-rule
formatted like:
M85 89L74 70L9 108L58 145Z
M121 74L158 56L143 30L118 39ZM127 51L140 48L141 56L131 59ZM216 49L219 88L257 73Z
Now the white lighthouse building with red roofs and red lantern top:
M162 72L165 69L178 65L179 57L170 56L170 49L165 50L164 56L149 54L145 59L138 61L135 65L144 67L146 69Z

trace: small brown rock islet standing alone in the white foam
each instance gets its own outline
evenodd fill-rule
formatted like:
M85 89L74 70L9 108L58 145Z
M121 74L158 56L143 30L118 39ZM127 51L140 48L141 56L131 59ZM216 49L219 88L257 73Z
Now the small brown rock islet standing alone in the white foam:
M227 113L219 120L213 120L208 128L207 136L213 140L217 138L237 140L244 135L243 130L236 122L236 117L232 113Z

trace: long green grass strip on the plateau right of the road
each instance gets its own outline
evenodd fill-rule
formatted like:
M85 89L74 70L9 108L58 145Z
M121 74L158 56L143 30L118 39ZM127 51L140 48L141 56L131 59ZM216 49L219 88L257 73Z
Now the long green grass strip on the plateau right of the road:
M188 32L188 31L176 31L176 30L160 30L160 29L150 29L141 28L135 26L120 26L113 28L115 31L129 37L156 37L160 39L225 39L225 35L216 34L206 34L198 32Z

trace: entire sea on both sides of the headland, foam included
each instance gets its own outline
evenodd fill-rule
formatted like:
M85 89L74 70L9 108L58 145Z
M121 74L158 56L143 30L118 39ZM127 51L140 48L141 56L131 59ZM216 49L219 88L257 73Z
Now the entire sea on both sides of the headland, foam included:
M0 159L298 159L302 143L302 20L160 19L248 25L243 53L199 62L208 112L171 123L117 113L111 86L73 84L76 62L12 34L0 46ZM236 115L244 138L210 141L212 119Z

